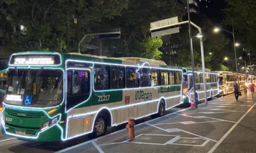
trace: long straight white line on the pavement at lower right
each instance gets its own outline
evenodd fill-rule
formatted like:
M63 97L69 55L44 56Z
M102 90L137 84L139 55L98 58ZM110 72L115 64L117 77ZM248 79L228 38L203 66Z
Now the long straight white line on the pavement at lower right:
M208 153L214 152L214 150L223 142L223 140L232 132L232 130L245 118L245 116L252 110L252 108L255 106L256 103L254 103L249 110L234 124L228 132L208 151Z

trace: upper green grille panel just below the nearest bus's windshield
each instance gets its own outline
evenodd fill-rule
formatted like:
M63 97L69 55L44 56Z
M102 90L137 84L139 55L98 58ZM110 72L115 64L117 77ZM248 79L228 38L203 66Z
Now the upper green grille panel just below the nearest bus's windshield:
M8 115L22 117L22 118L40 118L45 115L41 111L33 111L32 112L32 111L24 111L24 110L14 110L11 108L5 108L5 112Z

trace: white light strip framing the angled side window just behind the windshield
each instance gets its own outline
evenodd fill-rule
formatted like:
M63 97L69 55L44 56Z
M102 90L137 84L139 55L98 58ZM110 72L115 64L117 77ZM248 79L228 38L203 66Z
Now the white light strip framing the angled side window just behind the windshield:
M93 75L92 75L92 72L91 72L91 70L90 69L84 69L84 68L68 68L67 70L66 70L66 72L65 72L65 76L67 76L68 75L68 73L67 73L67 71L68 70L86 70L86 71L90 71L90 79L91 79L91 81L90 82L92 82L93 81ZM92 82L93 83L93 82ZM89 98L87 99L87 100L85 100L85 101L82 101L81 103L79 103L79 104L77 104L77 105L75 105L75 106L73 106L72 108L70 108L68 111L67 111L67 96L65 96L65 112L70 112L73 108L75 108L75 107L77 107L77 106L79 106L79 105L81 105L81 104L83 104L83 103L86 103L87 101L89 101L90 100L90 98L91 98L91 96L92 96L92 83L90 84L90 96L89 96ZM66 82L65 82L65 84L66 84L66 92L68 91L68 89L67 89L67 87L68 87L68 78L66 77Z

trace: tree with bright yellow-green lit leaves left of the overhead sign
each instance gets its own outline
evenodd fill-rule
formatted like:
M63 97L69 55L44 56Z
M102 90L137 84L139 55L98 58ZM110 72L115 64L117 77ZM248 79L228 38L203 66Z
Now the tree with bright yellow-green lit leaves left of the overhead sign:
M108 21L110 25L120 27L121 39L105 40L104 45L115 57L133 56L160 59L160 38L151 38L150 23L171 16L179 16L177 4L172 1L131 0L121 16Z

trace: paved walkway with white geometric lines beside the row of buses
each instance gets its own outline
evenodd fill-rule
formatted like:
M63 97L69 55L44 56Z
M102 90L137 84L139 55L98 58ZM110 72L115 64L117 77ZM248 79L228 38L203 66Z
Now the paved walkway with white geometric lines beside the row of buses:
M254 101L229 95L138 124L133 140L123 129L58 152L255 152Z

